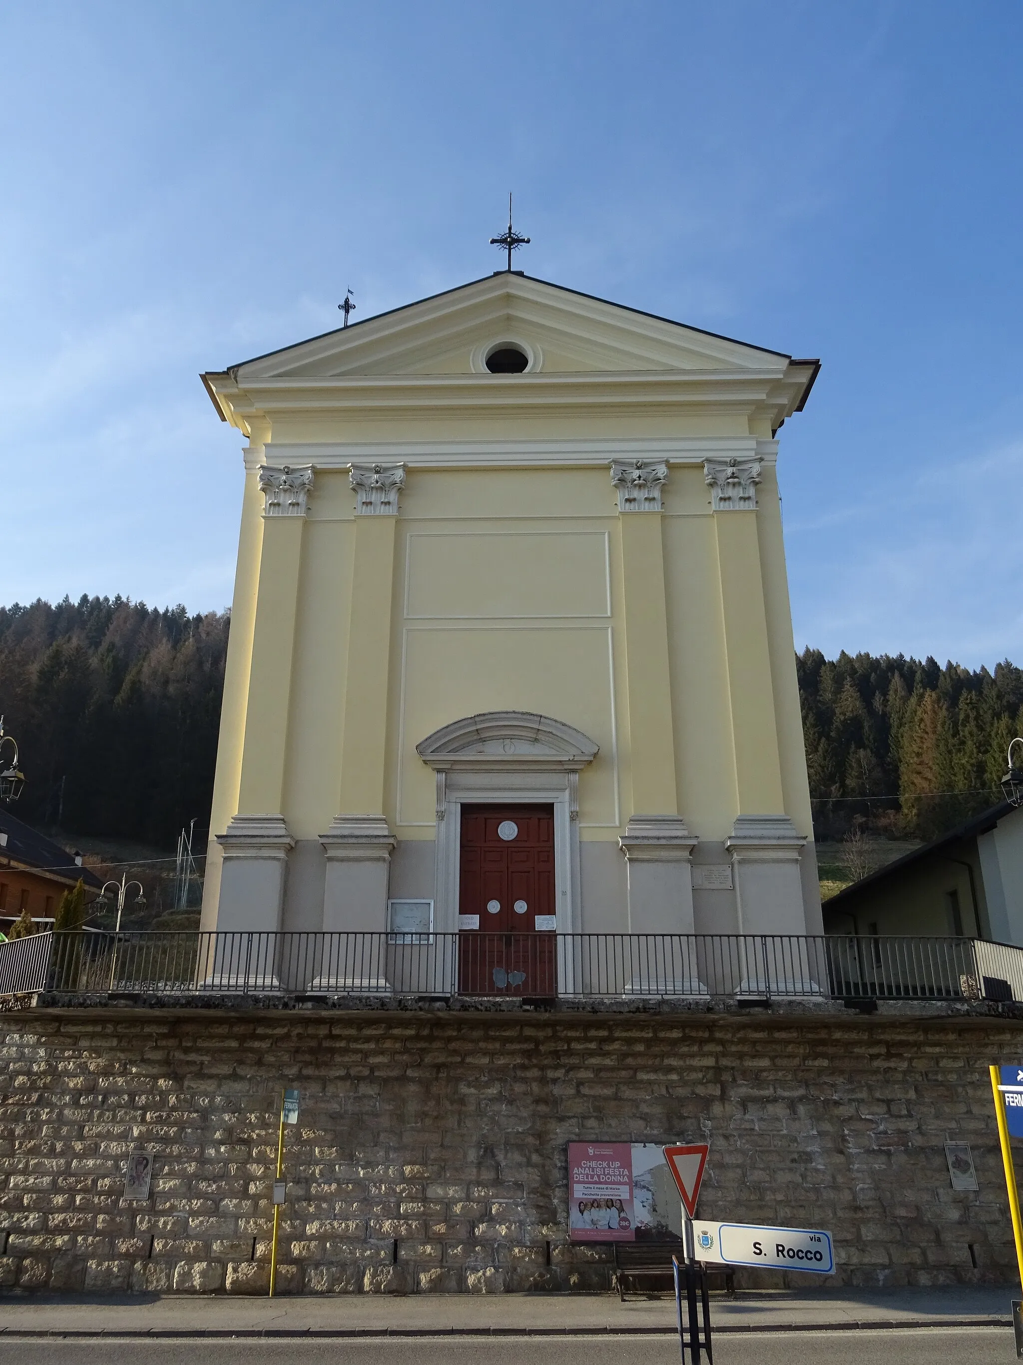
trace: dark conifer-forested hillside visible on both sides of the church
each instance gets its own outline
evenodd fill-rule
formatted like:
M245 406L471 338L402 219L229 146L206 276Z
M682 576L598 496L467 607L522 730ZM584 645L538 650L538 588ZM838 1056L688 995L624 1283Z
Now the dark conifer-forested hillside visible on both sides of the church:
M0 607L0 711L31 824L172 848L209 819L229 618L115 598ZM797 659L820 837L930 838L998 799L1023 672ZM196 831L198 831L196 826Z

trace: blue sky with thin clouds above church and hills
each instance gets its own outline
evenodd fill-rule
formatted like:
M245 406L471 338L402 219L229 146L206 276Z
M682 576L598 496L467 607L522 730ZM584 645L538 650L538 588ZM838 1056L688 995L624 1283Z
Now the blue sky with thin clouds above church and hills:
M1023 8L0 4L0 601L231 601L198 371L499 265L824 369L798 647L1023 663Z

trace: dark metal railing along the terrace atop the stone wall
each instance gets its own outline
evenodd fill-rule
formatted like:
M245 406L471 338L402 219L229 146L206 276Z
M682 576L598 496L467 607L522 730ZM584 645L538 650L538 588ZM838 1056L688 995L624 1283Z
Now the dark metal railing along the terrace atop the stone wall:
M63 932L0 945L0 996L1023 1001L1023 949L769 934Z

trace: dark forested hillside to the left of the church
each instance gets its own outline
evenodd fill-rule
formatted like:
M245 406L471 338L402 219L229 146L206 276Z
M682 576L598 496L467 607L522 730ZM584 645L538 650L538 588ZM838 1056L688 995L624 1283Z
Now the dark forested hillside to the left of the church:
M226 614L120 597L0 607L0 711L30 824L173 848L206 824Z

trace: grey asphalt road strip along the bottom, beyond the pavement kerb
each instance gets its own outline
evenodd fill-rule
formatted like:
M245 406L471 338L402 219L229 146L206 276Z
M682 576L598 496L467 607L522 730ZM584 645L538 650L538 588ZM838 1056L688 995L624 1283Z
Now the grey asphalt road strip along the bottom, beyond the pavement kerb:
M1005 1365L1008 1328L757 1332L719 1336L715 1365ZM679 1365L678 1342L649 1336L405 1338L382 1340L139 1338L0 1339L0 1365Z

